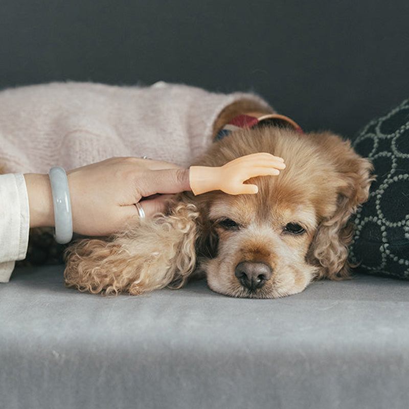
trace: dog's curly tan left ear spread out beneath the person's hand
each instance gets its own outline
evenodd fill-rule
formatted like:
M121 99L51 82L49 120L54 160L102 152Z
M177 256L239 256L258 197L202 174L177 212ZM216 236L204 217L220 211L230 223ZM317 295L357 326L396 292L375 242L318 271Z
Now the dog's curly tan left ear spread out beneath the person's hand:
M141 294L182 286L196 264L198 212L178 203L170 215L141 222L109 240L84 239L66 251L66 285L80 291Z

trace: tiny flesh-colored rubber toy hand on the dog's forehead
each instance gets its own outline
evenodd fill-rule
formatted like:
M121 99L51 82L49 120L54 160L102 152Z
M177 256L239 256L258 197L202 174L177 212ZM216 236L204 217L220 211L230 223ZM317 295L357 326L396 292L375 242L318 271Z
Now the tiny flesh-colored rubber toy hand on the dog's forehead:
M270 153L241 156L221 167L191 166L190 187L195 195L221 190L231 195L254 194L256 185L244 184L255 176L278 175L284 169L284 160Z

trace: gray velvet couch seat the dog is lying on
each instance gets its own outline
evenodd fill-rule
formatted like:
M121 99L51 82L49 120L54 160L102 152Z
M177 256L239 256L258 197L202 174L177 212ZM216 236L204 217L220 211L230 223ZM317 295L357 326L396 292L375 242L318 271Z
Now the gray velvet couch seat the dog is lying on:
M18 268L0 286L2 408L407 408L407 281L102 298L64 288L62 270Z

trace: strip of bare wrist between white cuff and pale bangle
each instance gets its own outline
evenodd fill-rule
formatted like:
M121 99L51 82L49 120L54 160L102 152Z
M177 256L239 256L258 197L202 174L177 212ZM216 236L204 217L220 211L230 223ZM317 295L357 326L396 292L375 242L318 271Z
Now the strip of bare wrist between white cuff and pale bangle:
M26 173L30 208L30 228L53 227L54 208L50 179L47 174Z

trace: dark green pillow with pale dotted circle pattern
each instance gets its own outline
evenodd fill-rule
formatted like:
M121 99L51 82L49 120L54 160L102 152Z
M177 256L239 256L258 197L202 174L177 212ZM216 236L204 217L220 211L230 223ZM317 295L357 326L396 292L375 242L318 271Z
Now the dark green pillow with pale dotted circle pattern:
M357 212L351 259L376 275L409 278L409 100L371 121L353 143L376 181Z

